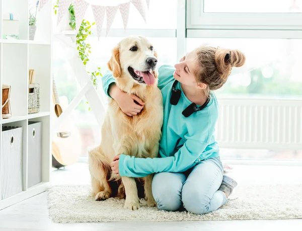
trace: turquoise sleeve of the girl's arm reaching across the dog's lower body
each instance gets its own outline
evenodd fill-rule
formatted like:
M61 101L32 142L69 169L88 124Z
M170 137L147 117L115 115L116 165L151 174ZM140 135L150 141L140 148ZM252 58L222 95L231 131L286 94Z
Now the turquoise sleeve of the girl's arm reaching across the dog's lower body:
M120 155L118 169L120 176L144 177L160 172L179 173L192 168L198 158L207 159L212 155L206 148L212 142L216 123L215 113L211 116L210 111L204 109L200 118L196 117L198 126L193 122L187 124L190 132L184 136L186 141L172 157L144 159Z

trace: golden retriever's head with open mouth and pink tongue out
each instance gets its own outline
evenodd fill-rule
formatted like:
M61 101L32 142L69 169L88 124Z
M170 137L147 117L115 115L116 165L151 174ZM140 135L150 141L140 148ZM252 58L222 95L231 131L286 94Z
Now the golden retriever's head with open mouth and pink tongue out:
M113 49L108 68L113 76L123 76L126 81L140 85L153 85L158 78L156 74L157 53L145 37L130 36L119 42Z

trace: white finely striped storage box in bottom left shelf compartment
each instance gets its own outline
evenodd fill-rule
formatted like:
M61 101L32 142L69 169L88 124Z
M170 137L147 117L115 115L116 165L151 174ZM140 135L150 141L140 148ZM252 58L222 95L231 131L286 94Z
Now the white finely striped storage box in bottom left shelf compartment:
M22 127L2 127L1 199L22 191Z

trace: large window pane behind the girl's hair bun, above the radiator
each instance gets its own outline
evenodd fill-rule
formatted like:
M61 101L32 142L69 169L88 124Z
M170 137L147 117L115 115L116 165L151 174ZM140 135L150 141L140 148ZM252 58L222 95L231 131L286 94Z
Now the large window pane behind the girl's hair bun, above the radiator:
M187 50L201 44L239 49L246 64L235 67L217 94L302 97L301 39L188 38Z

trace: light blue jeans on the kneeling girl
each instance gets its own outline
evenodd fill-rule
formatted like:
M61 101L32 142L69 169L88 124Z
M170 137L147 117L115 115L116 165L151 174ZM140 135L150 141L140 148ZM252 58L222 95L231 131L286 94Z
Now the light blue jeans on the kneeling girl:
M176 211L182 206L196 214L215 211L228 201L221 185L223 167L218 158L199 162L185 173L157 173L152 182L152 193L158 208Z

